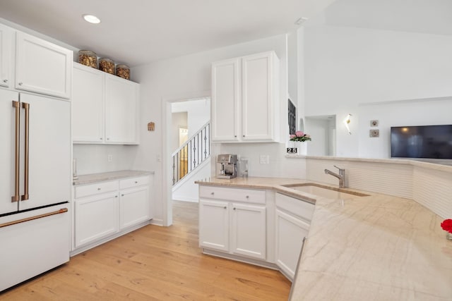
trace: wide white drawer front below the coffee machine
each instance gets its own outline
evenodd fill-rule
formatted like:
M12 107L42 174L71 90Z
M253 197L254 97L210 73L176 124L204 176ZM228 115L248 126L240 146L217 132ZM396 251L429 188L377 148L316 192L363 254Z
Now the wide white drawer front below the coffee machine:
M200 186L199 197L206 199L224 199L227 201L246 202L254 204L266 203L265 190L223 188L218 186Z

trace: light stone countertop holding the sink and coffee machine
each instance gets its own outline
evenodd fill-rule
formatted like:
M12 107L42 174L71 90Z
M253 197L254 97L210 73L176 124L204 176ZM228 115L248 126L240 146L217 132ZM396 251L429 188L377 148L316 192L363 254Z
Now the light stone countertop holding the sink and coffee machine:
M280 186L314 183L297 179L196 183L273 189L314 201L290 300L452 300L452 240L441 229L443 219L411 199L350 188L369 196L327 199Z

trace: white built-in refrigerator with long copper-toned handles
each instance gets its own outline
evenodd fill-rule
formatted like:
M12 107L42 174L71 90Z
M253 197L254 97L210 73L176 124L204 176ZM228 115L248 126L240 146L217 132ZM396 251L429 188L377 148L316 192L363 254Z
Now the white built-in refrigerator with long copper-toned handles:
M69 261L71 103L0 89L0 291Z

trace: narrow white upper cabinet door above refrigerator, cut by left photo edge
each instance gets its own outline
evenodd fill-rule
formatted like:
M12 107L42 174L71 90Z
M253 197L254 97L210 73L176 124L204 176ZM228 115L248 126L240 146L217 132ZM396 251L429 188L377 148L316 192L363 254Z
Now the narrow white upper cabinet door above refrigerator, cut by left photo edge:
M13 61L12 41L13 29L0 24L0 86L9 87L13 76L11 75Z

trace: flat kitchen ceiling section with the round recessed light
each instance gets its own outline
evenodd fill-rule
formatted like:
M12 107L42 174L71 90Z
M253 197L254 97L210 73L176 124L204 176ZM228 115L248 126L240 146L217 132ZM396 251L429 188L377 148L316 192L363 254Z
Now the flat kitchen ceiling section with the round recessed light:
M332 1L1 0L0 18L136 66L289 32Z

